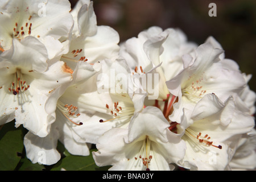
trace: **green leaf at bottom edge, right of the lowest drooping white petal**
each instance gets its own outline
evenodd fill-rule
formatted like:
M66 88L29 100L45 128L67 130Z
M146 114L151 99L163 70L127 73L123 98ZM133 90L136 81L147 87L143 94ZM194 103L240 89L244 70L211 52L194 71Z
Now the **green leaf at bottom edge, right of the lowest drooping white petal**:
M98 170L107 170L108 167L98 167L93 159L92 151L97 151L97 149L91 149L89 156L77 156L71 155L68 151L65 151L64 154L68 154L62 160L57 162L55 166L52 167L52 171L60 171L65 169L67 171L98 171Z

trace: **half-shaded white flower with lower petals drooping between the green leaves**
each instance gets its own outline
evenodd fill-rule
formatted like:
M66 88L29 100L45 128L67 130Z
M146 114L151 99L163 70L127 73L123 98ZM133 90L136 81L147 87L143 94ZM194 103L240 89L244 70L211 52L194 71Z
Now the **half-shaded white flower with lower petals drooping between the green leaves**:
M60 154L56 149L58 140L73 155L89 155L86 141L76 134L76 130L86 121L86 114L83 114L82 111L90 108L91 101L83 100L80 97L80 92L81 90L85 92L86 87L89 87L84 82L86 83L90 77L95 75L98 71L97 66L93 67L88 63L80 62L72 72L73 80L52 91L51 97L48 98L45 105L46 111L52 112L50 114L56 117L50 133L47 137L38 137L28 132L24 137L27 158L32 163L51 165L58 162L60 160ZM85 127L87 126L85 125ZM40 161L39 151L44 152L47 160Z

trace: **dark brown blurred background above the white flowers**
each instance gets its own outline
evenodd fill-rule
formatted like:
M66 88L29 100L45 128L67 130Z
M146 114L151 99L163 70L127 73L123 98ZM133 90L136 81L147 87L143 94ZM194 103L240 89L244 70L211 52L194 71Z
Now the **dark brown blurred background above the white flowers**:
M72 7L77 0L70 0ZM208 15L216 3L217 16ZM202 44L212 35L225 50L226 58L252 74L256 91L256 1L255 0L94 0L98 25L114 28L121 42L151 26L180 28L189 41Z

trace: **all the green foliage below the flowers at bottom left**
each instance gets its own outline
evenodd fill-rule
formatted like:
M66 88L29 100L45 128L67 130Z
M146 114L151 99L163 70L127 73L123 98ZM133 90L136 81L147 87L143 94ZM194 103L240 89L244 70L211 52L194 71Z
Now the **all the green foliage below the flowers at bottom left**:
M15 128L15 121L6 123L0 129L0 171L102 171L110 166L98 167L93 160L92 151L89 156L71 155L62 143L58 143L57 150L61 159L56 164L46 166L43 164L32 164L26 157L26 150L23 146L23 138L27 130L20 126Z

